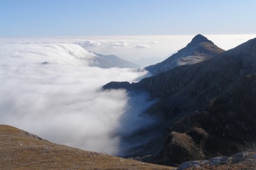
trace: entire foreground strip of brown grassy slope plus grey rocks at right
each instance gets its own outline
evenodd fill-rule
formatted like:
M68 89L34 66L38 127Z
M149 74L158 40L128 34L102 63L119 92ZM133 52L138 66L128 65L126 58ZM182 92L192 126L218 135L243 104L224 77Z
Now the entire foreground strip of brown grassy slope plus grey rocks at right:
M255 169L256 152L193 160L179 167L158 166L131 159L57 145L34 134L0 125L0 169Z

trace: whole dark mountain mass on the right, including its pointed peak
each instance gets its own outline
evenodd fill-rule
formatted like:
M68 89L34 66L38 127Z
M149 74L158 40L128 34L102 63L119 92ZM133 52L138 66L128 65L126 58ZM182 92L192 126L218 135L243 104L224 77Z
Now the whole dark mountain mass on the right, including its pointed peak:
M183 66L171 62L195 54L201 62ZM255 148L256 38L223 52L198 35L172 57L147 68L156 76L103 87L145 91L157 99L146 113L158 118L156 128L165 129L163 136L138 146L138 152L127 157L170 165ZM151 127L150 133L159 131Z

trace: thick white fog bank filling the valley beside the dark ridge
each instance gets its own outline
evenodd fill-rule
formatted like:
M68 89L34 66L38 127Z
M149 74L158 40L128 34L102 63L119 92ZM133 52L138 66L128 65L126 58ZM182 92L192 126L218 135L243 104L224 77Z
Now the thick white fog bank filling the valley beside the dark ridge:
M147 71L102 69L95 67L95 57L72 43L2 42L0 124L55 143L118 154L120 134L152 122L139 114L152 103L141 94L136 104L143 107L136 110L125 90L101 87L109 81L138 81Z

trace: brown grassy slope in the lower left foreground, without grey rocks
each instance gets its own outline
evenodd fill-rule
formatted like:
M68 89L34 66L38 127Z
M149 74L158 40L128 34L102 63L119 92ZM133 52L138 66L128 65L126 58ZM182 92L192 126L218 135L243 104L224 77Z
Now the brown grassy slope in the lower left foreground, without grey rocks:
M173 169L86 152L0 125L0 169Z

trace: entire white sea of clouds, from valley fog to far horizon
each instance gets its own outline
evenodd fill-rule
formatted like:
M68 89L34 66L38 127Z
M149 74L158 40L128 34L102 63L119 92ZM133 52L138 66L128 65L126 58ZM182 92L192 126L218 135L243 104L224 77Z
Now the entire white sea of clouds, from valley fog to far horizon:
M186 46L193 36L2 38L0 124L54 143L122 155L122 150L143 142L127 144L122 136L152 124L151 118L140 113L153 102L146 94L129 97L124 90L102 91L101 87L109 81L139 81L148 73L94 67L97 56L92 52L133 61L167 57ZM206 35L225 50L255 36Z

